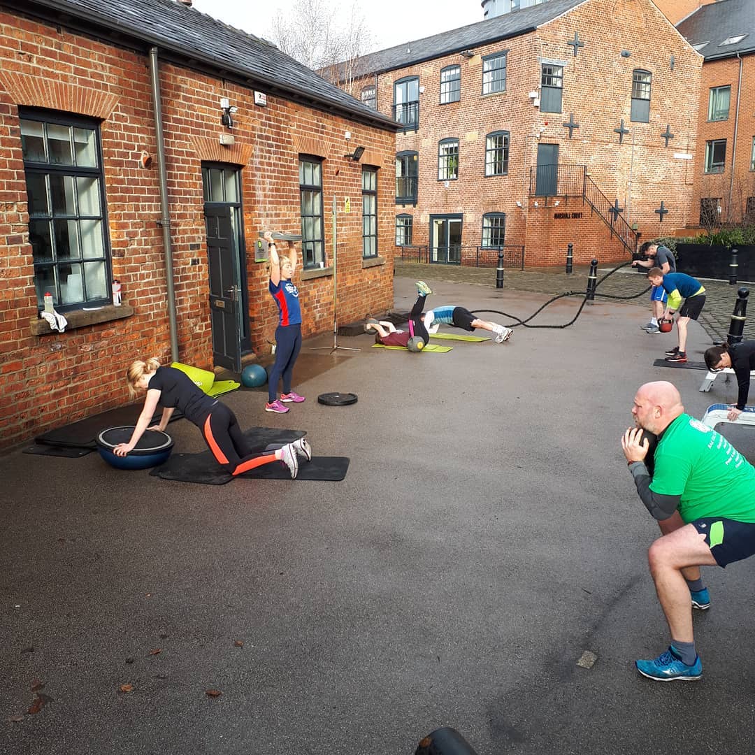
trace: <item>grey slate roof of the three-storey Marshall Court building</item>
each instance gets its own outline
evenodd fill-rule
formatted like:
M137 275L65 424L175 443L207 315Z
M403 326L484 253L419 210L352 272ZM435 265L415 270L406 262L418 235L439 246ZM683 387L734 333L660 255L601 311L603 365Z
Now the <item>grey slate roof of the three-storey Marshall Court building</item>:
M550 0L532 8L523 8L520 11L470 23L461 29L451 29L449 32L363 55L357 63L358 75L404 68L442 55L474 50L492 42L518 37L534 31L538 26L552 21L583 2L587 0Z

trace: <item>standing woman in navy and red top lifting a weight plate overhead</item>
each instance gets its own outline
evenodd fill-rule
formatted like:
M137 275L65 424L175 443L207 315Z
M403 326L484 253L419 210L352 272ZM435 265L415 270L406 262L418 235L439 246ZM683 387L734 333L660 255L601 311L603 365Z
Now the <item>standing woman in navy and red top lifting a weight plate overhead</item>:
M270 251L270 295L278 305L279 322L276 328L276 361L267 379L267 398L265 411L285 414L288 406L300 404L304 396L291 390L291 377L294 363L301 350L301 307L299 291L291 283L296 270L297 254L294 242L288 242L288 255L279 255L276 242L270 231L265 232L265 241ZM278 381L283 377L283 391L278 398Z

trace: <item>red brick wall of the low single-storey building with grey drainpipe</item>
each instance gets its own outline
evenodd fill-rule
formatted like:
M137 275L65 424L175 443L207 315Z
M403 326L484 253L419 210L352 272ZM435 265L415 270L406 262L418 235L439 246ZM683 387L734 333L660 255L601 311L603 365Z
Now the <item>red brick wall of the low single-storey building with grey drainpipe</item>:
M0 14L0 448L49 427L122 404L124 374L133 359L170 358L162 216L156 168L156 134L149 88L149 61L66 29ZM325 242L331 258L331 202L351 214L338 216L339 322L389 309L393 304L393 131L368 128L268 95L267 107L253 94L161 63L160 86L174 255L179 359L212 367L208 265L202 198L202 160L243 166L251 340L263 348L276 323L267 292L267 269L254 263L257 231L299 231L298 155L316 144L323 163ZM220 97L239 108L236 145L220 147ZM18 106L40 106L102 119L106 202L112 272L124 300L135 307L128 319L33 336L36 317L32 249ZM361 165L344 159L353 147L368 147L378 172L378 251L387 263L362 267ZM142 149L153 156L144 170ZM192 260L199 260L193 265ZM331 330L333 279L296 279L304 311L304 334Z

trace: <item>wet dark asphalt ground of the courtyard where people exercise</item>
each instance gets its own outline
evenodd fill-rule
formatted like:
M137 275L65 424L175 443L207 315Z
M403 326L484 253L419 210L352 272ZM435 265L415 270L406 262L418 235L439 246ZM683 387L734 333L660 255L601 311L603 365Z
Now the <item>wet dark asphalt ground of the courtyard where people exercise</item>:
M586 285L420 272L397 266L396 310L414 277L431 306L519 319ZM579 304L530 324L562 325ZM445 354L366 334L339 337L356 352L313 350L323 336L288 414L266 414L261 391L223 397L245 427L307 430L316 455L349 456L343 482L214 487L97 453L0 457L0 752L409 755L439 726L479 755L748 752L755 562L704 574L701 682L633 668L668 643L646 567L658 529L619 445L633 394L671 380L698 417L736 396L733 381L700 393L704 372L653 367L675 334L639 330L647 313L644 296L598 297L567 328L444 341ZM707 327L691 325L691 359ZM336 391L359 401L316 402ZM177 451L203 450L185 421L169 432Z

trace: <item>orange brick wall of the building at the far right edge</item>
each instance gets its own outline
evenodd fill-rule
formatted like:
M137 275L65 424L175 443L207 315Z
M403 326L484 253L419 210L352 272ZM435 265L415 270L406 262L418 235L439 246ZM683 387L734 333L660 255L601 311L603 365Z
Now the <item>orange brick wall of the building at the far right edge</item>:
M742 59L742 79L739 86L739 60L713 60L705 63L700 88L698 109L698 154L695 161L695 193L692 199L691 225L696 226L700 215L701 197L720 197L721 220L739 222L748 196L755 196L755 171L750 170L753 137L755 137L755 55ZM731 86L729 118L725 121L708 121L708 98L711 87ZM737 123L737 99L739 112ZM737 143L734 150L734 134ZM723 173L707 174L705 168L705 142L726 139L726 164ZM736 165L732 180L732 160Z

